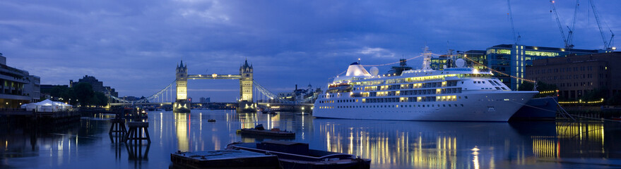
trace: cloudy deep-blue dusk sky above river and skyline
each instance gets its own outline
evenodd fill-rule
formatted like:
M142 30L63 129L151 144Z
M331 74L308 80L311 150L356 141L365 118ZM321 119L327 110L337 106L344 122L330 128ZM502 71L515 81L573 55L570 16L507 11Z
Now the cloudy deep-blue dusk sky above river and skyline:
M580 3L574 44L602 49L593 10ZM606 38L608 30L621 35L621 2L595 5ZM569 25L575 1L556 6ZM511 1L511 8L521 44L563 46L549 1ZM425 44L436 54L511 44L507 13L507 1L4 0L0 53L42 84L92 75L120 96L166 87L182 59L190 74L235 74L247 58L256 82L285 92L295 84L322 87L357 58L382 64L418 56ZM408 63L420 67L421 60ZM189 96L234 101L238 85L189 81Z

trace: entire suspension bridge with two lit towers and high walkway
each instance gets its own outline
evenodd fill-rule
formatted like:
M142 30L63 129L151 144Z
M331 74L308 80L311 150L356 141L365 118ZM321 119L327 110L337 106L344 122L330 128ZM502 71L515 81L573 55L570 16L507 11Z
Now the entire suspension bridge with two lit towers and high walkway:
M116 103L110 103L110 106L135 106L147 104L172 105L175 113L189 113L191 103L188 99L187 81L188 80L239 80L239 100L237 100L237 112L255 112L257 106L283 106L292 108L294 106L302 106L312 108L317 94L309 96L302 100L291 101L281 99L278 95L268 91L260 84L254 81L254 68L248 61L239 66L239 74L229 75L188 75L187 65L181 61L175 70L175 81L168 84L167 87L161 89L155 94L144 99L136 101L128 101L115 96L110 96L111 100ZM302 108L301 107L301 108ZM304 108L302 108L304 110Z

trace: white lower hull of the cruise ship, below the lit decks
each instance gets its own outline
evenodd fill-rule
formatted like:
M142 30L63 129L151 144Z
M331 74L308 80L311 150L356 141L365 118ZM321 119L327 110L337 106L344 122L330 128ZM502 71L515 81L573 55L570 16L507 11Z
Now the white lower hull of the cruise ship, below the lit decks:
M457 94L461 99L456 101L315 104L313 116L365 120L506 122L535 94L538 92L463 92ZM317 108L325 106L329 108Z

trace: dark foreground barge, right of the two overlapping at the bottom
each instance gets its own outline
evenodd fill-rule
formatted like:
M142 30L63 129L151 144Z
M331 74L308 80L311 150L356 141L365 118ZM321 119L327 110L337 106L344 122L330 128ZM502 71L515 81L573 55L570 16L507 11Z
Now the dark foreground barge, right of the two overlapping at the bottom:
M230 150L247 150L278 156L283 168L370 168L371 160L352 154L309 149L308 144L268 140L260 143L236 142L227 145Z

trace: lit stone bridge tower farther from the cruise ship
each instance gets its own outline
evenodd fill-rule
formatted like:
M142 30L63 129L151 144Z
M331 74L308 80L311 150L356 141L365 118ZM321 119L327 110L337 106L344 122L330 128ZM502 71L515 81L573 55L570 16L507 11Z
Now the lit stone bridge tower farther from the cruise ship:
M172 112L175 113L190 113L190 104L187 101L187 85L188 85L188 67L181 64L177 65L176 72L177 82L177 100L172 104Z

